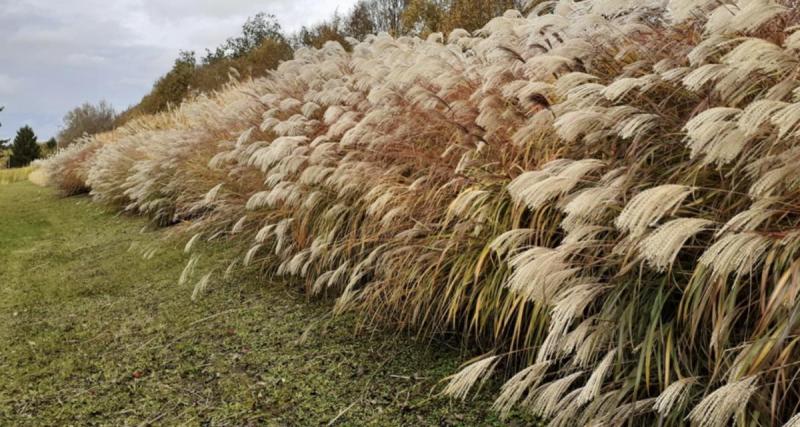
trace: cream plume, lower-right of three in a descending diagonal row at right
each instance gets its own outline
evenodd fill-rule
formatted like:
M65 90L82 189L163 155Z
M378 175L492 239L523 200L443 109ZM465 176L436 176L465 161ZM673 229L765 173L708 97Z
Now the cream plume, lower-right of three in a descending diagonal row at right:
M750 274L769 249L772 240L754 232L731 233L722 236L697 260L711 268L714 277Z

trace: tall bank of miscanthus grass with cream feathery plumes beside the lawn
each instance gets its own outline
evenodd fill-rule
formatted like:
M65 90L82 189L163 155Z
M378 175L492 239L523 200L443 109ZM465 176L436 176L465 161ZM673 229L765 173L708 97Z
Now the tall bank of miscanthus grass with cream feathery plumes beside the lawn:
M188 266L194 297L248 266L459 333L484 356L444 392L505 376L501 413L794 425L798 24L790 1L533 2L299 50L45 167L187 251L240 248Z

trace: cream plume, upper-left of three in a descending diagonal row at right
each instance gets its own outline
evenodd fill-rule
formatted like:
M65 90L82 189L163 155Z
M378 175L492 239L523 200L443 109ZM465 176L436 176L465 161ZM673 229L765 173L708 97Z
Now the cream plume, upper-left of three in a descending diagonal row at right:
M676 210L694 189L680 184L665 184L649 188L634 196L614 224L620 230L641 236L670 211Z

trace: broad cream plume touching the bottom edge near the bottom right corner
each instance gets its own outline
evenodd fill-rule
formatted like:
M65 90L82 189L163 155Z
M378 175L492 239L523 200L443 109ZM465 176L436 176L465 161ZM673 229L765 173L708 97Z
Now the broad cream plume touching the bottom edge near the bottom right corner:
M689 419L701 427L725 427L737 412L746 409L756 392L758 377L750 376L726 384L707 395L689 413Z

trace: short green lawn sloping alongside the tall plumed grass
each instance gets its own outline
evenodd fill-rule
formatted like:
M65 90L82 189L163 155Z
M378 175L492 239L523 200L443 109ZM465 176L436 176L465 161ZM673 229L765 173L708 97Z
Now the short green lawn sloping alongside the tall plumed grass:
M430 398L460 360L441 346L252 279L191 302L180 248L129 250L157 240L142 226L0 186L0 424L500 424L485 399Z

